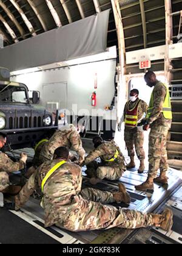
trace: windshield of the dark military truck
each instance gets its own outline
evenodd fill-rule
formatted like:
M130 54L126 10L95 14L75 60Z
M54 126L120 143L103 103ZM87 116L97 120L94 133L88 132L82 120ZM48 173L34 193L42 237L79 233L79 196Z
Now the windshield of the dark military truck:
M0 84L0 102L28 103L27 91L24 87Z

